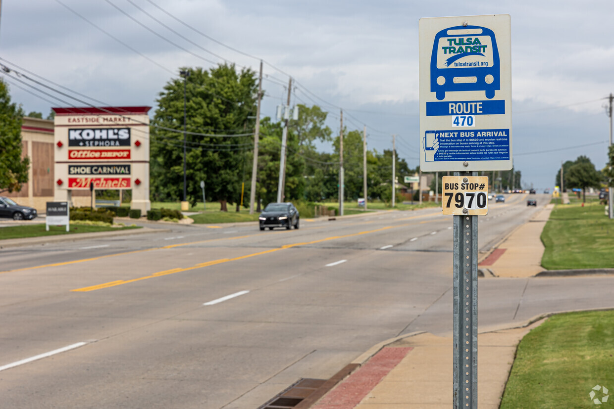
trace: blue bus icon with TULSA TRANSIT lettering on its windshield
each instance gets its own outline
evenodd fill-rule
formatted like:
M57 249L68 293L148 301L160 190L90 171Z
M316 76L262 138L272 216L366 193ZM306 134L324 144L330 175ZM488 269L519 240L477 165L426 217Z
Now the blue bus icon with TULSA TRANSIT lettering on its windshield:
M440 101L446 92L500 90L499 49L491 29L455 26L435 35L430 58L430 91Z

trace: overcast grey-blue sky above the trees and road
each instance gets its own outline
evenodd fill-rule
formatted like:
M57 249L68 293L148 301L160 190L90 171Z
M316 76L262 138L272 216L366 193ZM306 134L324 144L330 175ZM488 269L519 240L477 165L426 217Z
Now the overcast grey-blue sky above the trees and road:
M256 58L201 36L154 4ZM337 133L342 107L348 129L362 131L366 124L368 145L379 151L391 148L391 134L397 134L399 155L412 167L419 164L419 18L508 13L514 164L524 185L552 188L561 161L578 155L589 156L597 169L607 160L604 105L614 92L611 0L4 0L1 11L0 63L17 64L105 104L155 106L178 67L211 67L225 59L257 71L262 58L270 64L265 65L263 116L273 117L285 98L281 83L287 83L287 73L298 82L292 104L317 102L330 112L329 126ZM50 107L67 105L7 81L13 100L26 112L46 116Z

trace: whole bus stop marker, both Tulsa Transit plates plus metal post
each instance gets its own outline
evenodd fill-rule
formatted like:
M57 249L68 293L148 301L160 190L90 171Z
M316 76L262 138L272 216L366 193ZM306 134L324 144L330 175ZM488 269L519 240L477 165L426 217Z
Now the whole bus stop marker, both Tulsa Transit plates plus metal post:
M443 178L442 211L454 215L453 407L478 405L478 215L488 177L510 170L510 15L419 20L420 169Z

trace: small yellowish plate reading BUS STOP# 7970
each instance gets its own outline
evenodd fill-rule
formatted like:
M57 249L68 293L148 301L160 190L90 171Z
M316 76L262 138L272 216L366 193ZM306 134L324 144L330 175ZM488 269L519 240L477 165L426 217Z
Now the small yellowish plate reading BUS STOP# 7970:
M444 215L488 215L488 176L444 176L441 182Z

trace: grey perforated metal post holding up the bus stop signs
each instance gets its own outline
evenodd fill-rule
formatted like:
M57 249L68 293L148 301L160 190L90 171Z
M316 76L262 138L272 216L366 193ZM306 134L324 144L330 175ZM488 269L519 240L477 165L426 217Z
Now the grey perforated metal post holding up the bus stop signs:
M454 172L477 176L478 172ZM478 407L478 216L454 217L454 409Z

